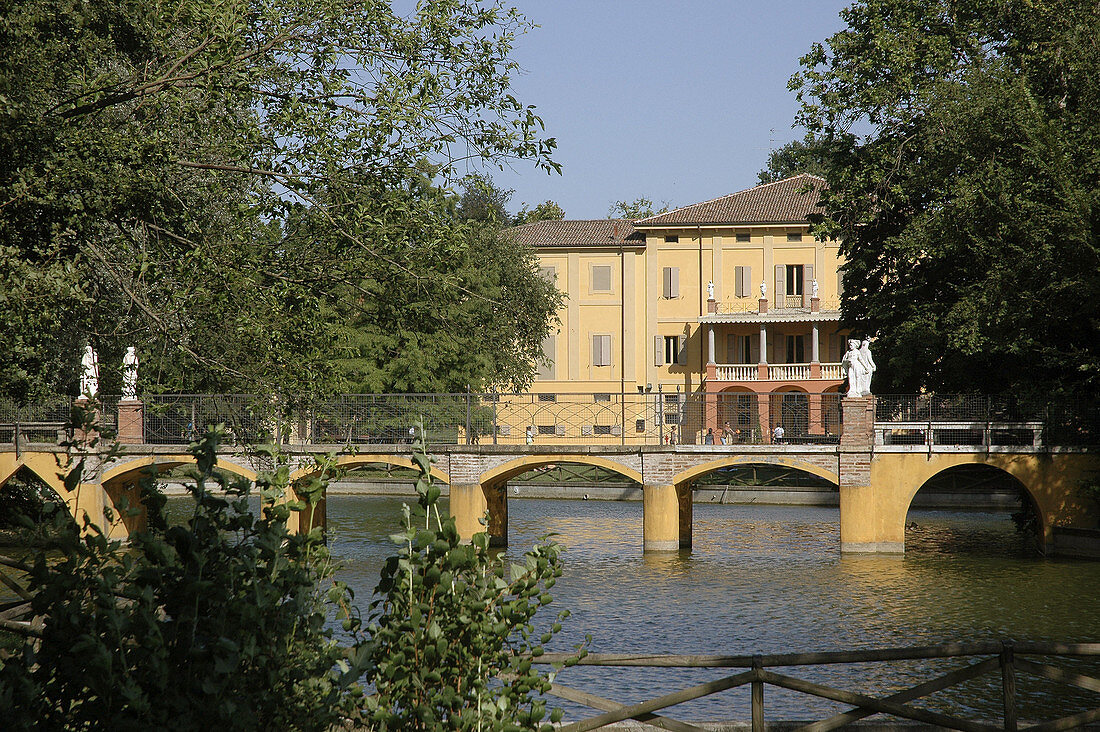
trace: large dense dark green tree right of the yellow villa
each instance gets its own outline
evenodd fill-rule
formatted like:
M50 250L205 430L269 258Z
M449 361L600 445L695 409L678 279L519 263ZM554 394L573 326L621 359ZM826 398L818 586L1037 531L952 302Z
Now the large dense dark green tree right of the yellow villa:
M802 59L844 319L883 387L1100 385L1100 8L862 0Z

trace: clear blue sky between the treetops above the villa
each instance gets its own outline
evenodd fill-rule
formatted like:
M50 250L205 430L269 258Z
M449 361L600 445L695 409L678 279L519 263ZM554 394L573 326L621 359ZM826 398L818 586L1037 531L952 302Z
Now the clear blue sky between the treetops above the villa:
M514 0L541 28L519 40L516 96L557 138L562 175L490 171L509 209L548 198L573 219L615 200L684 206L756 183L801 136L787 80L847 0Z

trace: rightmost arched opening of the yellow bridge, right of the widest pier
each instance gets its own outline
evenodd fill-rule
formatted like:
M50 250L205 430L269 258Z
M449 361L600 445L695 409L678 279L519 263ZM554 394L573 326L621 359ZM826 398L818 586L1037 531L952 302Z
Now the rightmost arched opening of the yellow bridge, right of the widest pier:
M947 468L926 480L905 515L905 551L1035 555L1038 506L1014 476L990 465Z

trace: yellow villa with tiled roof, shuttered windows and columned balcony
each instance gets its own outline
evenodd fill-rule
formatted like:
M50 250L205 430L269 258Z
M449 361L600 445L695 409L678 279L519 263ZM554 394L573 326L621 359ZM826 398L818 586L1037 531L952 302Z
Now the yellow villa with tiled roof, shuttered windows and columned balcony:
M782 426L789 440L835 436L843 259L837 242L810 233L823 184L799 175L637 221L509 230L566 295L530 396L580 411L526 433L618 443L658 430L662 441L704 443L711 430L717 443L768 440ZM585 402L607 408L588 409L600 419L586 423Z

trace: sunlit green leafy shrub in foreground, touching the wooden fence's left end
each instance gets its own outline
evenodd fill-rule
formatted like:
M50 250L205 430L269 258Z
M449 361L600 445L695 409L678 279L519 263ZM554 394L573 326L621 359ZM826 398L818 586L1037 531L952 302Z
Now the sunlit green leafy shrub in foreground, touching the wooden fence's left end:
M561 548L546 542L522 564L507 564L485 533L460 544L454 518L440 516L422 446L414 461L417 505L406 507L403 531L392 536L402 548L387 560L371 605L372 729L552 729L543 720L557 722L561 712L548 715L540 698L551 679L529 656L542 653L568 616L543 634L532 623L561 576Z

